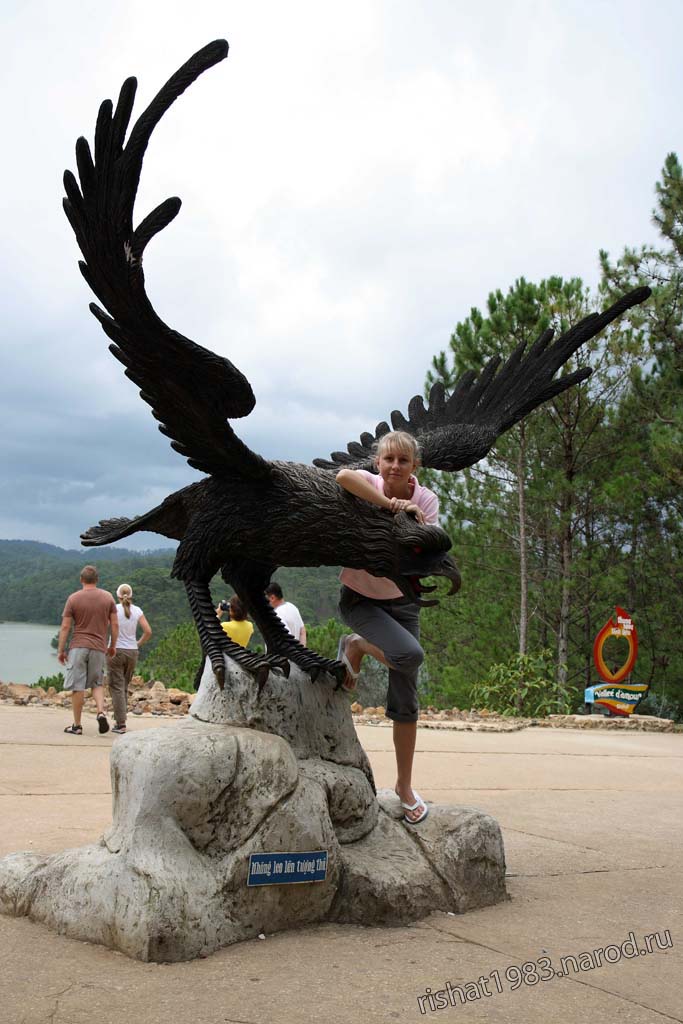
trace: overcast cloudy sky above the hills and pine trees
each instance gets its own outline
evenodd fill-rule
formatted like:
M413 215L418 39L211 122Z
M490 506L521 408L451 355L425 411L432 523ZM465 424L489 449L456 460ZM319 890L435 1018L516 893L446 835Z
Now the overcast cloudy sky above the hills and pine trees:
M106 349L61 211L74 142L195 50L226 61L153 135L139 221L159 314L229 357L266 457L345 446L422 391L434 353L519 276L598 280L655 238L683 155L683 6L628 0L5 0L0 67L0 538L78 547L199 478ZM139 535L128 547L157 547Z

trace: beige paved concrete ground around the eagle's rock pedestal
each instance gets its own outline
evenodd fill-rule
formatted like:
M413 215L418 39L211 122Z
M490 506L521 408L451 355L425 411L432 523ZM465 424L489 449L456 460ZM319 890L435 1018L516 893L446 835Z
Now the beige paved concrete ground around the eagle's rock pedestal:
M0 707L0 855L78 846L109 823L117 738L98 736L91 716L82 738L65 736L69 721L62 710ZM157 727L175 722L132 723ZM378 785L393 784L390 730L358 731ZM306 928L176 965L139 964L0 918L0 1021L683 1020L683 735L420 730L418 750L424 797L480 807L501 822L508 903L410 928ZM578 967L581 953L618 946L630 932L643 948L656 933L665 949L654 938L650 954L595 969L584 958L583 972L569 961L565 977L554 975L560 957L573 955ZM552 964L542 962L544 980L519 983L514 969L541 957ZM485 984L465 988L482 976ZM446 982L472 1001L462 1005L454 987L455 1007L432 1011L423 998L421 1014L418 997Z

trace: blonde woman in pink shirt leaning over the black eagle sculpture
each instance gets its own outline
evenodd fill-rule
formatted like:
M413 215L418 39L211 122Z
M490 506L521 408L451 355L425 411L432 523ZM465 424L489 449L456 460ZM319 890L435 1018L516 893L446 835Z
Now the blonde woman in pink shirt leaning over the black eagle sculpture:
M412 434L392 430L380 438L375 464L377 473L341 469L337 482L362 501L388 513L409 512L418 522L438 521L438 499L421 486L415 475L420 452ZM339 643L338 658L347 669L346 689L353 689L366 654L389 670L386 716L393 721L396 755L396 795L403 808L403 820L418 824L428 808L413 788L413 758L418 721L418 671L424 658L420 646L420 608L403 597L391 580L371 575L361 569L344 568L339 612L355 630Z

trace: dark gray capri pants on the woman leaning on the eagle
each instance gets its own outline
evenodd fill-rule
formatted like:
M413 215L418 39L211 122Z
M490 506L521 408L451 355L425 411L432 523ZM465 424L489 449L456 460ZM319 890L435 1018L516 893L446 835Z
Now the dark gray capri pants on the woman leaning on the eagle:
M387 718L417 722L418 670L425 656L419 642L419 605L402 597L377 601L342 587L339 613L364 640L379 647L389 663Z

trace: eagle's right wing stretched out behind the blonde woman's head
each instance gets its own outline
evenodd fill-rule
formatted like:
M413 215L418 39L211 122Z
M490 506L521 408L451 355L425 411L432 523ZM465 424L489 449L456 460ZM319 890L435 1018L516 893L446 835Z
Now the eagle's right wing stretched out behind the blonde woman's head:
M649 288L638 288L622 296L604 312L591 313L554 342L554 332L545 331L525 356L525 345L521 344L502 367L497 357L486 364L479 377L471 371L463 374L447 397L437 381L427 408L416 395L409 403L408 419L393 412L391 427L379 423L374 434L364 433L359 441L350 441L347 452L333 452L330 459L313 459L313 463L322 469L370 469L377 441L394 429L417 438L423 466L449 472L473 466L487 455L497 437L524 416L590 377L591 370L584 368L553 380L581 345L649 294Z

